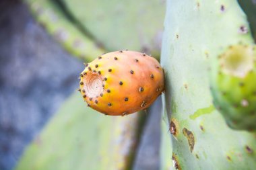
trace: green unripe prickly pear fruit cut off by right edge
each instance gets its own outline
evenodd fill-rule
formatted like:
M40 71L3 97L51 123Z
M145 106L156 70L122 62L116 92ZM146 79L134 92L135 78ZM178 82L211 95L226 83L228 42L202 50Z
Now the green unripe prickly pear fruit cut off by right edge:
M213 71L212 95L228 126L256 130L256 50L235 45L218 57Z

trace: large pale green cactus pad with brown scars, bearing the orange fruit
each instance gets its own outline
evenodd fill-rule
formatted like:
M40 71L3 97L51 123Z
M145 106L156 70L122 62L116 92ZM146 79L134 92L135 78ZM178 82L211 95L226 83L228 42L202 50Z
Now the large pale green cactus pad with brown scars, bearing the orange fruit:
M172 138L172 152L162 149L162 169L256 169L256 134L228 127L210 91L218 56L230 45L253 44L247 16L234 0L168 0L166 9L161 64L170 130L162 134Z

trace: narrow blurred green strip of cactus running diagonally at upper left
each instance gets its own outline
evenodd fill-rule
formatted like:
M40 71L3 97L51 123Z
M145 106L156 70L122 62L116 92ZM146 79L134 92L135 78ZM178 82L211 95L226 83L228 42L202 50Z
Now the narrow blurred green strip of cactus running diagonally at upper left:
M94 40L83 34L73 23L69 22L61 9L53 4L53 1L24 1L45 30L74 56L90 61L105 52Z

